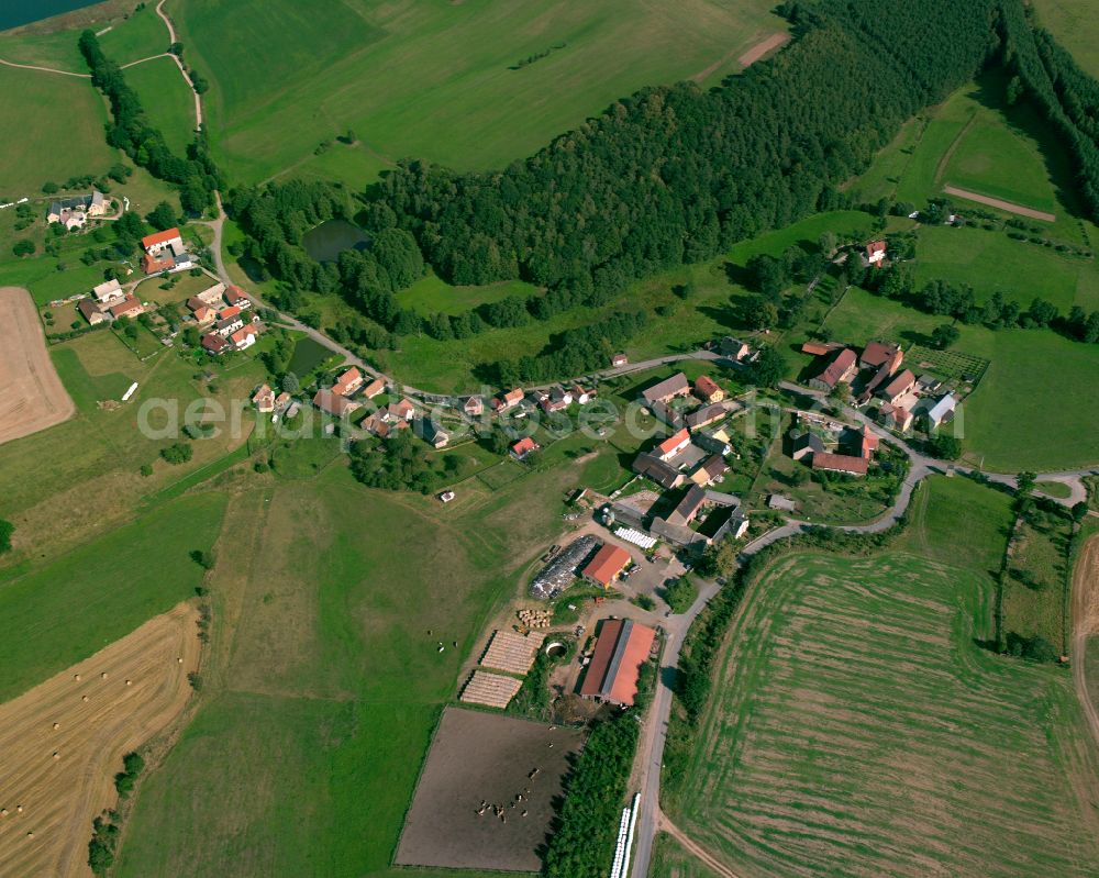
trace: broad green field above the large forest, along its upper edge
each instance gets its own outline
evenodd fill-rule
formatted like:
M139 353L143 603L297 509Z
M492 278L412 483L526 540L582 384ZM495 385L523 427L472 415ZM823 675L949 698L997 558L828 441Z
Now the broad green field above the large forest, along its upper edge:
M376 158L330 171L362 185L371 164L412 155L500 167L642 86L717 82L784 30L770 7L190 0L174 14L211 80L210 130L235 180L312 164L318 144L351 129Z

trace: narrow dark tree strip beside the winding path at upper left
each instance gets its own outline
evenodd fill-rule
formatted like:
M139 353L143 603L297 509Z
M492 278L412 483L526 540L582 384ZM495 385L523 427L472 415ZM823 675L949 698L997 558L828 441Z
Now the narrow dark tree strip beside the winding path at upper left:
M111 104L107 142L122 149L135 165L157 179L178 186L179 203L185 212L199 214L210 208L213 192L220 188L221 175L206 138L196 134L186 157L173 153L164 135L149 122L137 92L126 84L122 68L103 54L96 34L85 31L79 46L91 70L91 84Z

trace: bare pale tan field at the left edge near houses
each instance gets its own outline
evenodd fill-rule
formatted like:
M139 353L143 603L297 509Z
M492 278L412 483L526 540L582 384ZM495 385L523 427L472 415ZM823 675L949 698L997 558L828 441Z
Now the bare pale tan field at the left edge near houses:
M49 360L31 293L0 287L0 443L59 424L75 411Z

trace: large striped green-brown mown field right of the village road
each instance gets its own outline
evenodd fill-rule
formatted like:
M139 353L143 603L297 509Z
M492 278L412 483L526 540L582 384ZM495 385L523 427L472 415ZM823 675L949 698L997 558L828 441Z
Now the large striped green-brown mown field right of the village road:
M922 491L900 545L782 558L733 623L673 814L733 871L1094 871L1099 759L1070 679L974 643L1009 518L973 482Z

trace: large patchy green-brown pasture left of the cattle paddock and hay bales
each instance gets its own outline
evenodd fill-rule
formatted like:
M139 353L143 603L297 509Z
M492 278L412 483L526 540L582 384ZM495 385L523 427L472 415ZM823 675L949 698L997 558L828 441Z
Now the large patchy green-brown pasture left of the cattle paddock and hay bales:
M580 471L445 508L338 465L236 493L203 700L142 788L118 874L402 874L390 857L458 667Z

